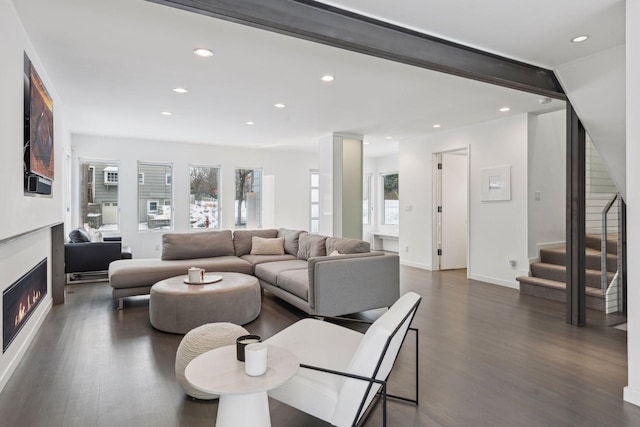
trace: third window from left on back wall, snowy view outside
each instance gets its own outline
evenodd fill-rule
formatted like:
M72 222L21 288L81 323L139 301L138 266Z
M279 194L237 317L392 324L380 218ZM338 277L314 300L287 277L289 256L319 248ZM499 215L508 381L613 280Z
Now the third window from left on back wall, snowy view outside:
M220 228L220 166L189 167L191 228Z

